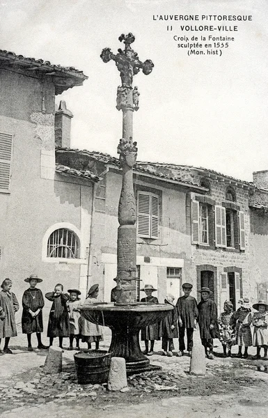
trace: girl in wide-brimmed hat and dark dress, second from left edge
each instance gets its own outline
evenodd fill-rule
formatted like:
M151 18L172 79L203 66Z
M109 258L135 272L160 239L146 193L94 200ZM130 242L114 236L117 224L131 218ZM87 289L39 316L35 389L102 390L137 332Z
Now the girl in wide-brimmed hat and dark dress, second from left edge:
M36 288L36 285L41 283L42 279L36 274L31 274L24 281L29 283L30 287L22 296L22 334L27 334L28 351L33 351L33 347L31 346L31 334L33 332L36 332L38 348L46 349L48 347L44 346L41 340L41 332L43 332L42 308L45 302L42 291Z

